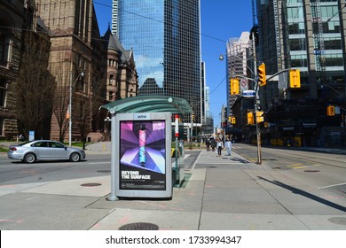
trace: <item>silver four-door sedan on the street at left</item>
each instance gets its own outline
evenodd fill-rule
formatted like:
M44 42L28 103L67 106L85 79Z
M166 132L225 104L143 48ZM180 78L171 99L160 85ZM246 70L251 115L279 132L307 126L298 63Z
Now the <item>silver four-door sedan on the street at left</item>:
M22 160L26 163L34 163L38 160L70 160L77 162L85 159L85 152L82 149L68 147L57 141L35 140L10 145L7 157Z

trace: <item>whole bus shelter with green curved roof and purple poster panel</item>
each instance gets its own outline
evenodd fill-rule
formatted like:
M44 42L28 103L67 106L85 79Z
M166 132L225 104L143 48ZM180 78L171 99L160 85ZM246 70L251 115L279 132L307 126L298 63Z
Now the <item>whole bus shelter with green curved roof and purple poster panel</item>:
M192 107L178 97L138 96L101 108L110 112L112 125L111 195L108 199L171 198L177 170L181 176L177 155L176 172L172 176L171 115L191 114Z

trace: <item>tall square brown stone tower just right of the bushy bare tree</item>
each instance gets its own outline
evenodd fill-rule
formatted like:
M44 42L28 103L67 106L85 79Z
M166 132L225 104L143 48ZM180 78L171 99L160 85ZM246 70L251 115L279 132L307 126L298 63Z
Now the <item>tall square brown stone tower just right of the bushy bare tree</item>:
M80 141L91 131L91 31L92 21L96 21L92 1L37 0L36 7L51 32L50 69L58 85L59 96L51 118L51 139L68 138L66 112L71 86L71 137L72 141Z

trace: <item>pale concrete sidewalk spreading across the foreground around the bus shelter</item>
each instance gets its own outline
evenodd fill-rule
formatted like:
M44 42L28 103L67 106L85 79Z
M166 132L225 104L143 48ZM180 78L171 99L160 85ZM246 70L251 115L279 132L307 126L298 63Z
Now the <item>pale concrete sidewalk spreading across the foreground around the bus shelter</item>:
M340 224L346 220L344 198L323 201L323 190L251 163L236 154L236 144L233 148L231 157L201 151L172 200L108 201L110 175L3 184L0 229L118 230L128 224L161 230L346 229ZM107 147L97 143L87 152ZM81 187L84 182L90 187Z

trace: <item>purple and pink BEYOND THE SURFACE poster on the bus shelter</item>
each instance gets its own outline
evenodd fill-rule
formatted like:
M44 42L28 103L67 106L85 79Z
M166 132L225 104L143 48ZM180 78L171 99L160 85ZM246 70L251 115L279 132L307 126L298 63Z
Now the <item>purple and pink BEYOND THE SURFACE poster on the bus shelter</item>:
M165 122L120 120L120 190L166 190Z

